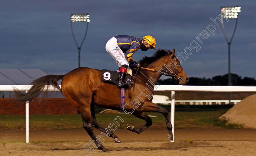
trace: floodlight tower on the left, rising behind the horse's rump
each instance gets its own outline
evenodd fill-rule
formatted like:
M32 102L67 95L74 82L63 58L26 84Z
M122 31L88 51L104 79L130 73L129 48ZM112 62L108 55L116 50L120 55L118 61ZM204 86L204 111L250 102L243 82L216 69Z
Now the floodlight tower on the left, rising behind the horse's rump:
M84 35L84 39L86 37L86 34L87 34L87 30L88 30L88 23L90 22L90 15L87 13L87 14L74 14L74 13L71 13L71 30L72 30L72 35L74 37L74 40L76 42L76 38L75 38L75 35L74 35L74 32L73 32L73 27L72 27L72 23L73 22L86 22L87 23L87 26L86 26L86 31L85 31L85 35ZM78 49L78 67L80 67L80 50L81 50L81 47L82 47L82 44L84 42L84 39L80 45L80 47L78 46L77 42L76 42L76 46L77 46L77 49Z

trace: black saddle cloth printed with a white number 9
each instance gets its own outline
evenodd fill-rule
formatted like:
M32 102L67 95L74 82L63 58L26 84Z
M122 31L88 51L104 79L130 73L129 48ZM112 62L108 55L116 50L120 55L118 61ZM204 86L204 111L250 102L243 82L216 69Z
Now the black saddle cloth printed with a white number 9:
M119 70L110 71L110 70L107 70L107 69L102 69L102 80L105 83L110 83L110 84L114 84L114 85L118 86L119 73L120 73ZM132 82L131 70L130 70L130 73L127 70L125 81L127 83Z

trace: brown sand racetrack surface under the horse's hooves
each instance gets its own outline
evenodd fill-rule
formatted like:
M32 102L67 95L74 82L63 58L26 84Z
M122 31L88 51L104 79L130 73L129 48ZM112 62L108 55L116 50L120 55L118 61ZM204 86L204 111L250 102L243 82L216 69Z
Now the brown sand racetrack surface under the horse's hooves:
M177 129L175 142L169 142L166 129L148 129L141 134L118 129L115 134L122 140L114 143L112 138L104 137L103 145L109 153L94 148L92 156L106 155L255 155L256 129ZM96 135L99 131L95 130ZM25 141L25 131L1 130L0 141ZM1 156L86 156L83 151L89 143L89 136L83 129L61 131L30 131L31 141L46 143L2 143ZM192 140L190 143L188 140ZM67 143L49 143L49 141L68 141ZM78 141L78 142L71 142ZM80 142L83 141L83 142ZM89 146L87 146L89 147Z

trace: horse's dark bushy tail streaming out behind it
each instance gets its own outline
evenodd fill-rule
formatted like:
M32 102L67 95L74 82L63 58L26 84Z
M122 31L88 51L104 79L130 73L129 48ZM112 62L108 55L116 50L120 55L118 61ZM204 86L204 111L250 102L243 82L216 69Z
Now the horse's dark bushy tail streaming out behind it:
M46 85L52 85L53 87L61 90L58 85L58 80L62 79L63 76L64 75L46 75L40 77L31 83L33 86L30 88L30 90L28 90L27 93L23 93L15 88L15 98L17 101L20 101L22 103L25 103L26 101L30 102L37 98L37 96L43 92L41 99L38 102L39 104L41 100L47 95L48 88L44 91L42 90Z

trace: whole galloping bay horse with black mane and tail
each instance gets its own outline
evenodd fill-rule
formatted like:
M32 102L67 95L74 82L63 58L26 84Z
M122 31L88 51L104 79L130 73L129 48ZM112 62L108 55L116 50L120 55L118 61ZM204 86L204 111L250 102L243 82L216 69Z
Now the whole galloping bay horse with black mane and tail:
M155 70L139 69L140 72L137 73L133 85L125 90L126 105L124 106L124 111L145 120L146 124L140 128L128 126L126 129L141 133L152 125L152 119L145 112L159 112L165 117L167 129L169 130L167 135L172 140L172 124L168 111L151 101L156 81L162 75L173 76L180 85L186 84L189 80L180 66L180 61L176 59L174 54L175 49L172 49L172 51L158 49L153 56L144 56L138 62L141 67ZM136 70L133 70L132 77L134 77L135 73ZM112 137L114 142L121 143L119 137L112 131L107 132L107 128L101 126L95 118L94 105L114 110L120 109L120 88L116 85L104 83L101 75L101 70L87 67L76 68L66 75L46 75L34 80L31 83L33 86L27 93L15 90L16 100L24 103L26 101L31 102L42 92L44 95L46 94L47 91L42 90L46 85L52 85L61 90L66 99L80 111L83 127L93 140L96 140L96 135L93 132L93 127L95 127L103 133L109 134L109 137ZM58 85L58 80L60 79L62 79L61 87ZM44 95L41 98L44 98ZM108 151L101 143L97 141L94 143L98 149L104 152Z

